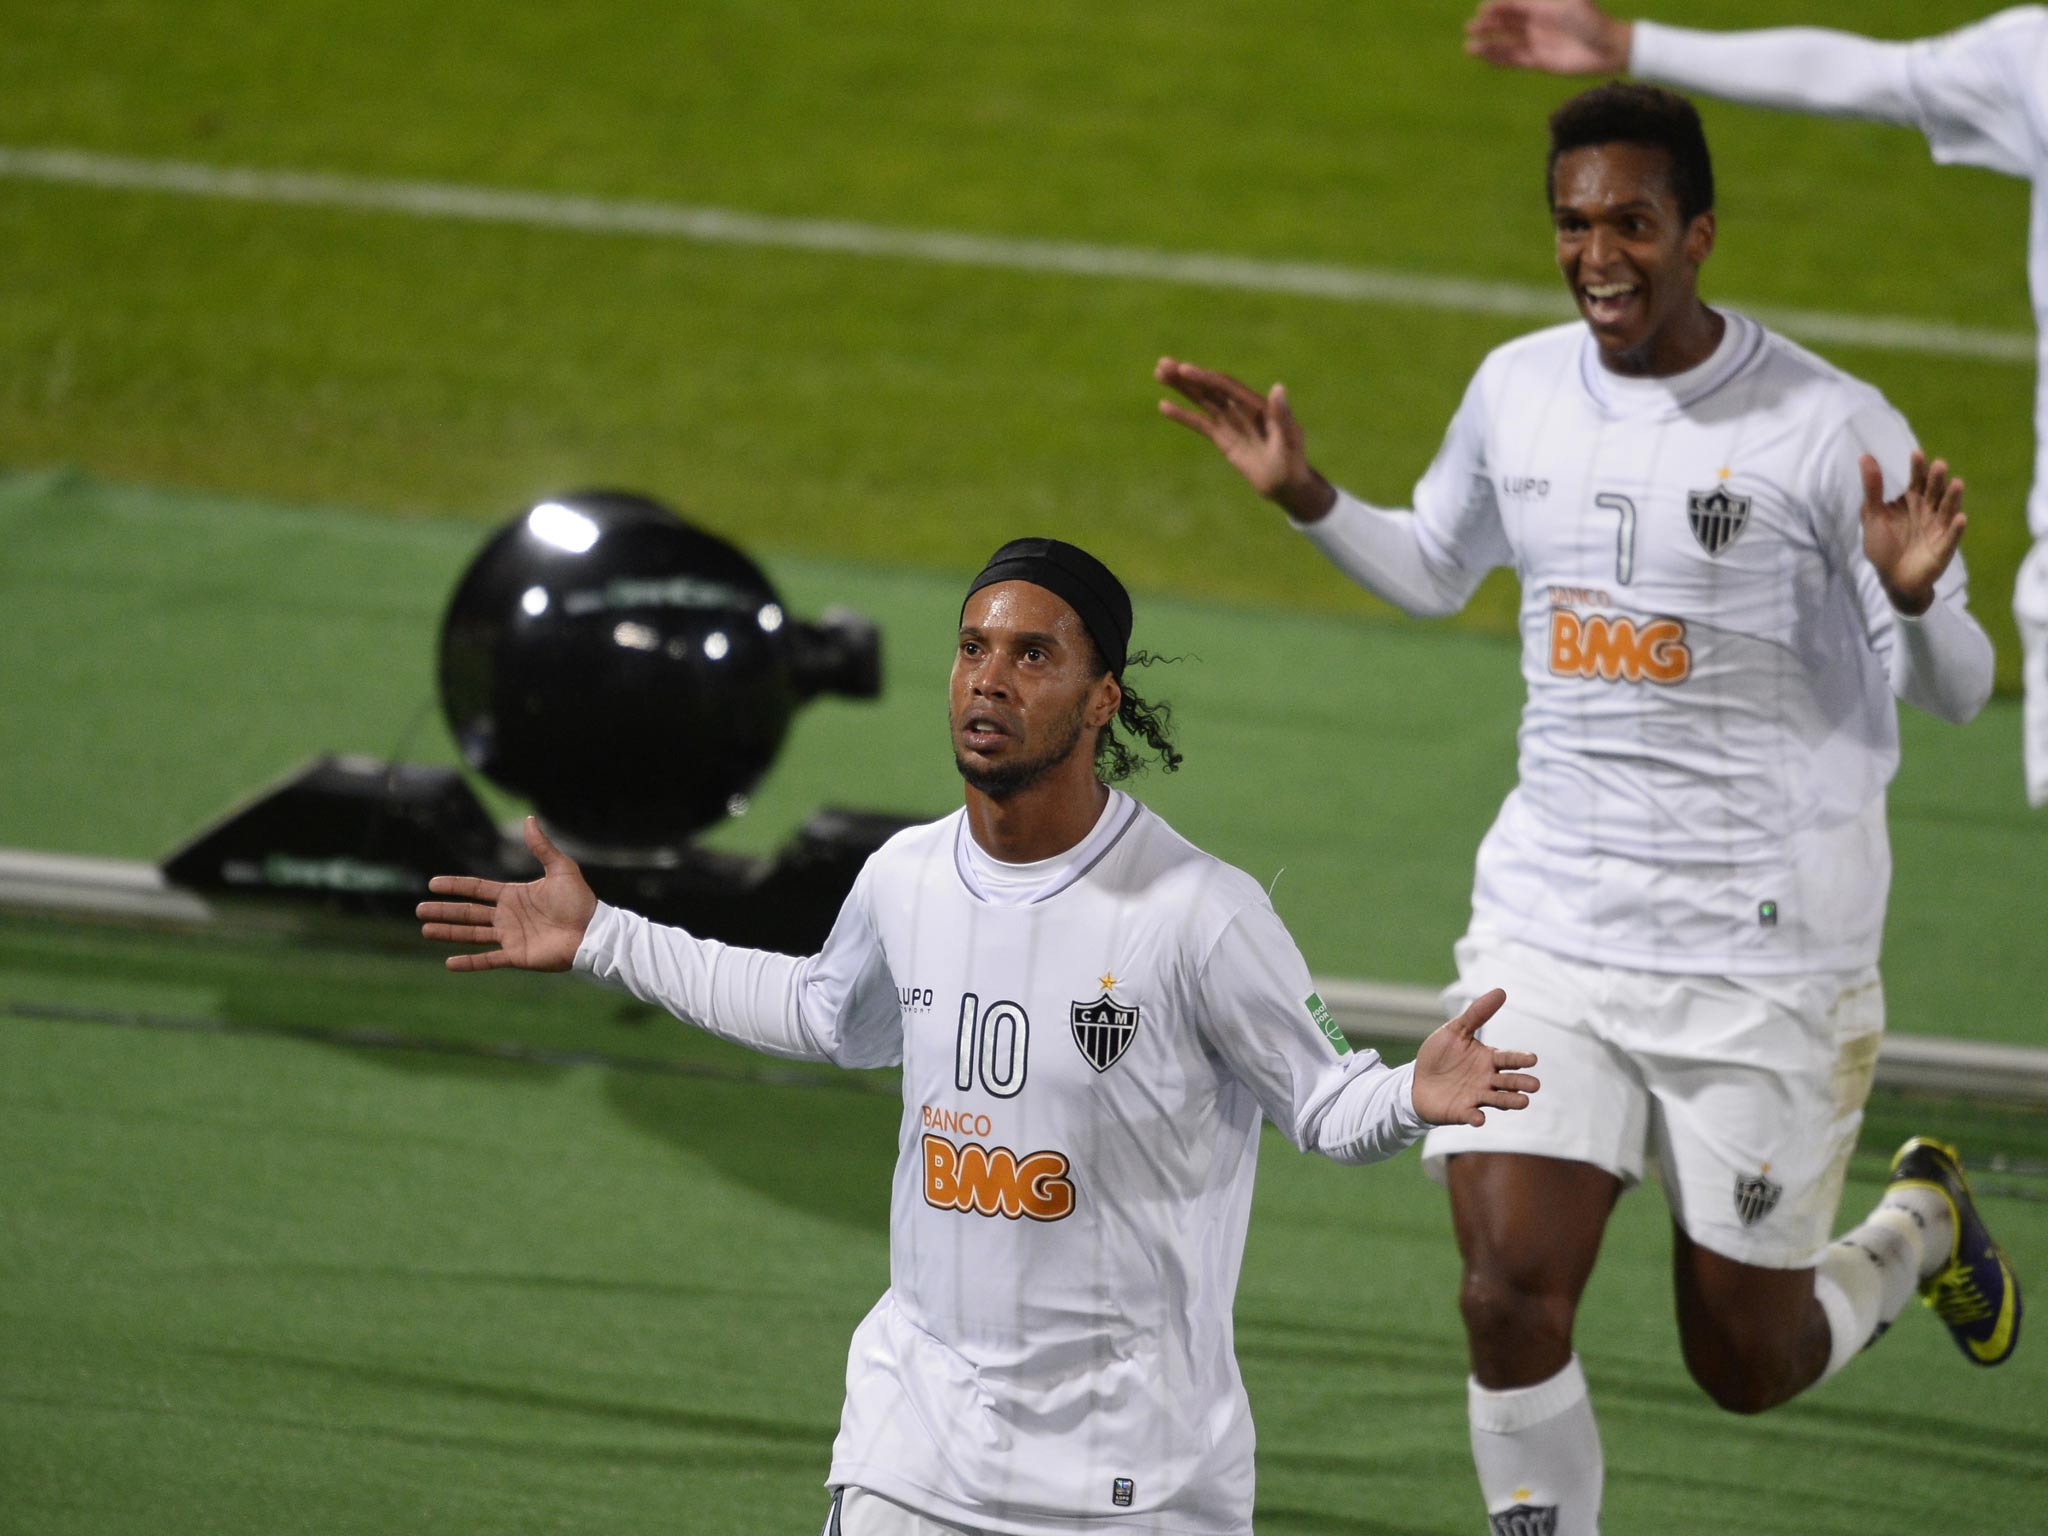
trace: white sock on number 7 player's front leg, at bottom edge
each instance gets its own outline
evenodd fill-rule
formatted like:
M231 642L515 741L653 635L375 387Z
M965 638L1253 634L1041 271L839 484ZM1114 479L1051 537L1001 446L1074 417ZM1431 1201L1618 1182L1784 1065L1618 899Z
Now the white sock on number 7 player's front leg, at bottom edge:
M1573 1356L1550 1380L1495 1393L1470 1380L1473 1464L1495 1536L1546 1532L1597 1536L1599 1425L1585 1395L1585 1372ZM1513 1509L1528 1509L1516 1520ZM1554 1524L1538 1511L1556 1511Z

